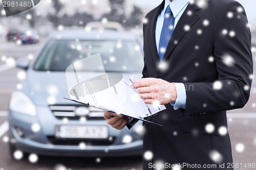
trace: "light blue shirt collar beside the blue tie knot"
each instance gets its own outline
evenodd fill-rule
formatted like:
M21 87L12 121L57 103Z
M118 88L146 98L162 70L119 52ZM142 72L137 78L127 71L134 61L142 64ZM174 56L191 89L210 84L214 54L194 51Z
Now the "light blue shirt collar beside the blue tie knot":
M186 7L189 1L190 0L174 0L173 2L171 2L170 0L165 0L163 9L164 13L169 5L170 10L172 10L174 17L176 18L176 16L182 11L182 9Z

